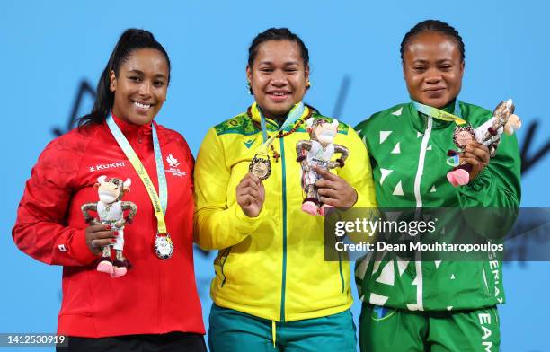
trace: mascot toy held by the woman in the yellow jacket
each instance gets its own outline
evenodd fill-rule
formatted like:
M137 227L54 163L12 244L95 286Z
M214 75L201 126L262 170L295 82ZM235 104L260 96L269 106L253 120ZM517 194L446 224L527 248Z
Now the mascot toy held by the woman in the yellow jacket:
M302 203L302 210L307 214L324 216L326 209L332 206L321 204L315 182L321 180L314 170L318 166L326 171L336 167L343 167L348 158L348 148L343 145L334 145L333 140L338 133L338 120L329 121L325 118L310 118L306 121L310 140L297 142L297 162L302 165L302 188L306 198ZM333 155L340 153L340 158L331 161Z

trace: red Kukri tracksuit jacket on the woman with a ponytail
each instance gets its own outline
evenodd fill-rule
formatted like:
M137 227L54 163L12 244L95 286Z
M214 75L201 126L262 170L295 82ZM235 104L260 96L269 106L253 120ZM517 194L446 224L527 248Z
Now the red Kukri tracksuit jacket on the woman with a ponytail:
M151 127L115 121L158 192ZM59 334L91 338L169 331L204 334L193 272L193 157L180 134L155 127L168 184L165 220L175 248L170 260L155 255L157 227L151 200L105 123L75 128L56 138L32 169L13 240L32 258L64 267ZM132 265L124 277L96 271L97 257L85 243L87 224L80 207L99 200L93 185L102 175L130 178L130 191L123 200L137 205L137 215L124 228L123 253Z

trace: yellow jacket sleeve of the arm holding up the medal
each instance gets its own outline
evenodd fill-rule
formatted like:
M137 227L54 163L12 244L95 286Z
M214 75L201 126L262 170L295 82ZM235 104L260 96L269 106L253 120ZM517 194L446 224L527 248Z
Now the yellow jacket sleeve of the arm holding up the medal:
M236 202L228 204L230 176L226 151L211 128L200 145L194 172L195 242L203 250L220 250L242 242L262 221L262 213L251 218Z

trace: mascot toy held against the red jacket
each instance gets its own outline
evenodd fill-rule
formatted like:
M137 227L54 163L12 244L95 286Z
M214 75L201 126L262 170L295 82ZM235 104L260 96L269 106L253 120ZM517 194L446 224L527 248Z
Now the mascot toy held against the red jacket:
M115 250L115 260L111 260L111 245L104 246L102 249L102 258L97 265L97 271L110 274L111 277L121 277L126 274L130 267L129 261L122 255L124 248L124 224L130 224L137 213L137 206L128 201L122 201L124 194L129 192L130 179L122 182L120 179L108 179L107 176L97 178L97 183L93 187L97 188L99 202L86 203L82 209L86 224L110 224L111 229L117 231L116 242L112 244ZM129 210L128 216L124 217L124 211ZM99 219L90 215L90 211L95 211Z

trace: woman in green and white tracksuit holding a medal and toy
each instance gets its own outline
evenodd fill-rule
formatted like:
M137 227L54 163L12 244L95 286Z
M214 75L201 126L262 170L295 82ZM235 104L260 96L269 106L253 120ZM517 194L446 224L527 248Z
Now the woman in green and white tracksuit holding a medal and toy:
M486 146L467 145L460 160L471 166L470 181L455 188L446 178L446 160L456 149L457 124L416 108L421 103L447 111L474 128L492 117L492 111L457 100L465 66L457 31L445 22L420 22L404 36L401 57L412 102L377 112L355 128L368 146L379 207L519 207L515 136L502 136L491 159ZM361 350L498 350L496 305L504 303L498 260L406 261L388 253L360 262L356 277Z

